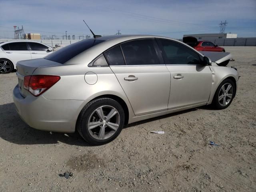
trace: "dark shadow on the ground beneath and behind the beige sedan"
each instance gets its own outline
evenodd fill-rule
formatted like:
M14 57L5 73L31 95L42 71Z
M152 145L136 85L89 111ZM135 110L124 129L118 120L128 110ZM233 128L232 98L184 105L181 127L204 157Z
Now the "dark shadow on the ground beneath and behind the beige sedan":
M211 110L209 107L202 107L206 110ZM156 118L150 118L147 120L142 120L140 122L135 122L125 126L124 128L129 128L139 124L144 124L152 122L155 120L168 118L170 116L176 116L182 113L196 111L197 108L184 110L182 112L176 112L172 114L167 114L164 116L159 116ZM0 138L12 142L15 144L22 145L32 145L32 144L56 144L66 143L69 145L76 146L92 146L88 144L84 139L77 133L57 133L48 131L36 130L28 126L25 122L21 120L18 113L15 110L14 103L0 105Z

